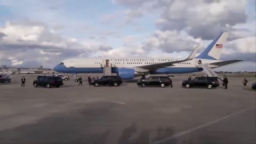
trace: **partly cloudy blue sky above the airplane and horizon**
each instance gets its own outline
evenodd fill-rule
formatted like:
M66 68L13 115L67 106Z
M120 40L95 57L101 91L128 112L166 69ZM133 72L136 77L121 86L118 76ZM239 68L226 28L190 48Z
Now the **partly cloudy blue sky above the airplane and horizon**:
M0 65L68 58L186 58L229 32L218 68L256 71L255 0L0 0Z

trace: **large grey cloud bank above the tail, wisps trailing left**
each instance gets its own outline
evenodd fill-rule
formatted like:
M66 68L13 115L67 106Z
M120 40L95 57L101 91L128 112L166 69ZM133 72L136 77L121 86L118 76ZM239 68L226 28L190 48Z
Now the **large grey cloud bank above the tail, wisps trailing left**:
M194 38L213 39L221 31L236 31L234 26L246 23L247 1L125 1L115 0L115 4L124 5L138 17L127 21L135 23L145 13L161 13L155 20L156 28L162 31L186 30ZM134 15L134 16L135 16ZM236 15L234 17L234 15ZM129 17L128 17L129 18ZM241 38L235 36L231 39Z

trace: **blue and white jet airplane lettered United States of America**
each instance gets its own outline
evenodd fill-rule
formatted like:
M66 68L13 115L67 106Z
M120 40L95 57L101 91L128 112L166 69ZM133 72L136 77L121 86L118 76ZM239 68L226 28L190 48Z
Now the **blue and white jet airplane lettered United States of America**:
M228 33L222 32L197 57L196 46L187 59L172 58L73 58L60 62L53 68L59 73L103 73L105 67L111 68L122 79L133 79L150 74L182 74L203 71L202 65L218 68L242 60L220 61L223 45Z

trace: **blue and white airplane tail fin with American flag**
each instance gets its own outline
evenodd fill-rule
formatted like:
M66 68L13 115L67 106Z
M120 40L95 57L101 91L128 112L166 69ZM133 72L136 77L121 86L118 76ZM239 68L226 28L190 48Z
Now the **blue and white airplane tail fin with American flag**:
M205 48L205 50L199 54L196 58L198 59L210 59L219 60L223 46L227 41L228 33L222 32Z

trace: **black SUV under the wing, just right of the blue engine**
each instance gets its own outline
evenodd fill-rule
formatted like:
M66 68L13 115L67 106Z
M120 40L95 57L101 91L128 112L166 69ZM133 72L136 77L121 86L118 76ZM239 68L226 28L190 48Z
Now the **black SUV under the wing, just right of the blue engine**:
M172 80L167 76L150 76L146 79L138 80L137 85L141 87L145 87L146 85L165 87L167 85L172 86Z

